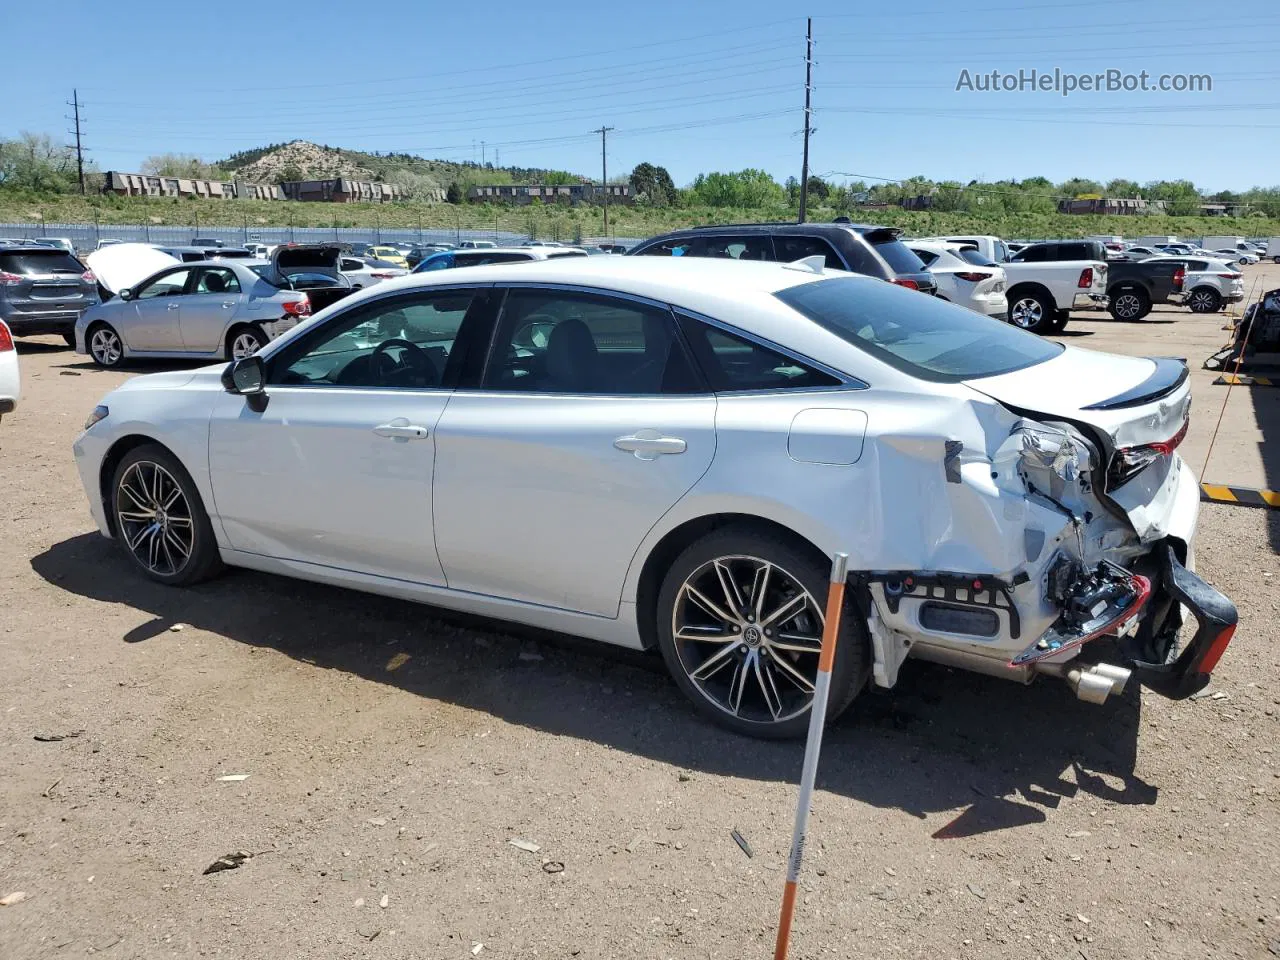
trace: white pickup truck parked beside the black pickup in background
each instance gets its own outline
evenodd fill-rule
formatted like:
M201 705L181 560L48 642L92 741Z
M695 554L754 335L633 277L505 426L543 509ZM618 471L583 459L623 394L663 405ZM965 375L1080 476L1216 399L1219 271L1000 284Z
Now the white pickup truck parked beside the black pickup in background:
M1005 268L1009 323L1033 333L1061 333L1070 311L1097 306L1107 298L1107 265L1088 260L1084 251L1065 250L1074 244L1092 248L1089 241L1029 243L1016 253L998 237L931 237L948 243L973 244L979 253ZM998 259L997 259L998 257Z

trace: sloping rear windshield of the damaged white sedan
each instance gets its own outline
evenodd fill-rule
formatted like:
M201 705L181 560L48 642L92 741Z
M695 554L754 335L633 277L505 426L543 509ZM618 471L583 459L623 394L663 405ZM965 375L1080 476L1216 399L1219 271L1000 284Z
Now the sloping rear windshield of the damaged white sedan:
M891 283L832 278L774 296L823 329L922 380L996 376L1062 352L1052 340Z

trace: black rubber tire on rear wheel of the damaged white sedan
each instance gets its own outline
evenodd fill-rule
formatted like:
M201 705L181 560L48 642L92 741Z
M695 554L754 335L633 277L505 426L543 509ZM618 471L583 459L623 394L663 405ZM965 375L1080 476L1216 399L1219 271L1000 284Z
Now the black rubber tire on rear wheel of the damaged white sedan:
M707 608L689 599L686 580L700 582L698 580L700 576L716 576L716 571L712 573L704 571L713 567L713 562L718 559L727 562L726 570L730 571L731 580L741 581L739 590L746 602L750 602L750 593L756 581L753 577L753 581L748 582L742 573L751 571L750 564L753 563L758 564L763 561L771 564L772 573L765 580L762 611L767 614L771 608L778 609L791 602L800 602L800 613L777 622L790 627L791 631L804 634L805 637L812 637L814 631L820 636L822 621L813 616L813 611L814 603L819 612L826 608L829 567L824 566L820 558L810 550L786 536L750 525L733 525L717 530L685 549L671 566L662 584L662 590L658 593L655 612L658 646L676 686L692 701L695 709L736 733L769 740L804 736L809 728L812 699L799 684L791 680L791 676L812 678L817 668L817 654L774 648L772 644L783 643L791 637L785 637L774 627L771 641L765 626L767 616L760 617L759 623L753 616L748 623L745 611L736 612L742 614L739 620L742 626L733 630L736 636L741 636L741 644L730 635L728 628L717 632L718 628L714 623L722 618L704 616ZM801 599L804 593L794 589L795 584L799 584L808 594L809 603ZM718 596L724 598L728 589L731 588L721 588ZM723 604L723 599L719 603ZM730 639L678 643L675 636L675 622L677 616L685 618L686 614L701 617L713 623L713 626L691 626L690 630L712 631L707 636ZM754 639L753 631L755 631ZM810 645L812 640L806 640L806 650ZM700 655L704 649L707 649L705 657L694 662L692 658ZM726 669L714 668L703 677L707 685L704 692L704 687L699 686L690 677L690 673L696 673L699 667L705 667L717 657L723 658ZM755 664L760 667L759 673L754 672ZM740 687L736 714L731 712L730 704L721 704L714 699L714 689L726 681L723 675L728 672L727 668L731 666L732 676L727 678L730 687L726 690L727 696L732 695L731 690L739 677L739 671L746 675ZM788 666L790 669L787 669ZM869 673L870 641L867 636L867 627L855 605L846 600L840 627L840 646L831 675L831 695L827 704L828 721L835 719L849 708L854 698L867 686ZM753 682L748 684L748 681ZM769 694L765 691L767 681L772 681L773 696L778 704L776 712L769 703ZM764 691L763 695L762 691Z

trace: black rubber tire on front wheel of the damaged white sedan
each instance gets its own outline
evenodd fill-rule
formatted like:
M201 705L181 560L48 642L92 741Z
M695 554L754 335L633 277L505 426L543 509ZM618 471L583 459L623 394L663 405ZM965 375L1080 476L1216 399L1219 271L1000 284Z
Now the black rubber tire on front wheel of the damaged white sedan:
M161 471L159 479L155 467ZM127 479L131 490L136 489L134 479L141 480L141 499L120 489ZM180 492L182 498L170 500L174 488ZM159 503L156 497L150 497L152 490L159 490L157 497L164 498L168 506L159 513L161 525L147 532L156 526L155 516L150 522L136 517L143 516ZM151 580L169 586L189 586L221 571L218 541L200 490L178 458L160 444L147 443L124 454L111 476L108 509L111 511L115 535L125 556ZM180 525L182 520L189 521L189 525ZM186 535L188 531L189 536ZM179 547L174 544L189 545L187 558L180 563L165 563L165 557L172 561L179 552ZM148 553L152 545L157 558L155 564L138 556L140 550Z

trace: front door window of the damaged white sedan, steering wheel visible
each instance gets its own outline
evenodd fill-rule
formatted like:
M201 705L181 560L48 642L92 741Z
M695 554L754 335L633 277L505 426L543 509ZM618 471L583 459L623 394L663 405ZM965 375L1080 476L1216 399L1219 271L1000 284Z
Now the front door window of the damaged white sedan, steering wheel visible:
M273 358L270 379L296 387L440 387L477 296L436 291L356 307Z

